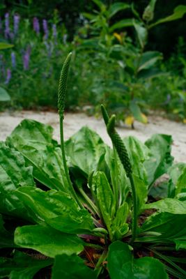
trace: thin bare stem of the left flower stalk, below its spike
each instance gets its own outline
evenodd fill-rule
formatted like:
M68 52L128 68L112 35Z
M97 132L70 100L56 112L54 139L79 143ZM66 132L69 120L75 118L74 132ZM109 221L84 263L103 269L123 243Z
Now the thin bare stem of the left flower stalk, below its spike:
M72 195L75 197L75 200L79 204L79 206L82 208L81 202L79 202L79 199L77 197L77 194L75 193L75 189L72 186L72 182L70 181L70 176L68 172L68 166L66 163L66 158L65 158L65 147L64 147L64 138L63 138L63 116L59 115L59 125L60 125L60 140L61 140L61 153L62 153L62 158L63 158L63 166L65 170L65 176L68 181L68 186L69 190L72 192Z

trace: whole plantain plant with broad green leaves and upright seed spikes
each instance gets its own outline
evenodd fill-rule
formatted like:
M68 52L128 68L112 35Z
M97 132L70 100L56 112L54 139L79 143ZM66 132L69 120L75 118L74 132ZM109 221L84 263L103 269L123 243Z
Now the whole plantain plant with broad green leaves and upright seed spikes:
M185 278L186 164L173 165L169 135L121 140L104 105L113 149L88 127L64 142L71 56L61 144L28 119L0 143L0 278Z

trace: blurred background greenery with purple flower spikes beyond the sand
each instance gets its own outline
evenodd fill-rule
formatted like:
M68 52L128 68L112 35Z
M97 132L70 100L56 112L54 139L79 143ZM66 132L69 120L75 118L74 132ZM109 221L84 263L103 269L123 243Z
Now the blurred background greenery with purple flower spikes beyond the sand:
M186 123L185 0L1 0L0 16L1 111L56 110L72 51L67 110Z

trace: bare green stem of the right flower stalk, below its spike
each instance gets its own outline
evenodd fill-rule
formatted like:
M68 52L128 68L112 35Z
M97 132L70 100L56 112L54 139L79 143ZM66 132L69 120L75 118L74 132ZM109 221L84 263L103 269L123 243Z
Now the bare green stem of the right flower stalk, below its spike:
M136 193L136 188L134 186L134 179L132 174L129 175L129 179L130 179L130 185L132 189L132 199L133 199L132 239L131 239L131 243L133 243L137 237L137 193Z

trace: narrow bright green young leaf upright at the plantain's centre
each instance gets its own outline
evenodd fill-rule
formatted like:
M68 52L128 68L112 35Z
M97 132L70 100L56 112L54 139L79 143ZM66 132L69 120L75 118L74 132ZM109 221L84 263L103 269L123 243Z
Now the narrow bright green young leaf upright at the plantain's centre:
M94 191L96 193L98 206L112 239L111 223L116 213L116 201L104 172L95 172L95 174L93 174L92 187L95 188Z

